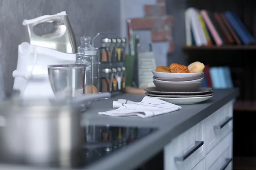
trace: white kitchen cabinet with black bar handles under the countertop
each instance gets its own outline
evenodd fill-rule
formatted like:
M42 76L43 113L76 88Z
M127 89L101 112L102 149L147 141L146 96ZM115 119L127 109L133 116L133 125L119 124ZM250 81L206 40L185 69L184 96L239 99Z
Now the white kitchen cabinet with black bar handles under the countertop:
M232 101L164 148L165 170L232 170L232 158Z

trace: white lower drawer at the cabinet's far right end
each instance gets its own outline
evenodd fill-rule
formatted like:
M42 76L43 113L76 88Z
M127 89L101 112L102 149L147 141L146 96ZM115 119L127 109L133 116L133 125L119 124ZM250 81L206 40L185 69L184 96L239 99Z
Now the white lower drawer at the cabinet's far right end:
M206 170L232 170L233 132L230 132L205 157Z

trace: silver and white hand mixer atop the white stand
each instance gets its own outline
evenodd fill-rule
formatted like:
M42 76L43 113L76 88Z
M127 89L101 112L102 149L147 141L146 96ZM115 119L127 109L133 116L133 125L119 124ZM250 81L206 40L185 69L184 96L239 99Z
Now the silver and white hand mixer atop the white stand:
M52 30L45 34L35 32L36 26L52 23ZM68 20L66 11L54 15L44 15L32 20L24 20L26 40L31 45L51 48L64 53L76 53L76 37Z

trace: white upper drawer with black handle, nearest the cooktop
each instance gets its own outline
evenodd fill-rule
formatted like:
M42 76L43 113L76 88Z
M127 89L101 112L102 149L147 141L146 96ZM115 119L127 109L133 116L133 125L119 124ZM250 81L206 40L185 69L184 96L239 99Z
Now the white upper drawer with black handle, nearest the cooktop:
M205 156L203 123L177 136L164 147L165 170L192 170Z

